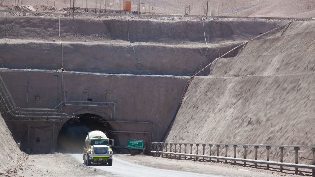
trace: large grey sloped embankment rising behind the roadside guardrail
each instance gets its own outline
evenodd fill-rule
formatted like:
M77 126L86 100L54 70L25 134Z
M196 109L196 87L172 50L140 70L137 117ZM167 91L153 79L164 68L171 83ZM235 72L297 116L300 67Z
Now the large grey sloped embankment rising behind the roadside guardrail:
M314 26L295 21L195 77L166 142L313 145Z

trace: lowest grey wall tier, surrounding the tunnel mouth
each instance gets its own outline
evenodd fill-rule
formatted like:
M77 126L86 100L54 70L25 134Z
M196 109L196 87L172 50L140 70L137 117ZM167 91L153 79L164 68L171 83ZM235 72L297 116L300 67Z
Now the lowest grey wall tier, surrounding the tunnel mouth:
M54 108L61 99L73 101L86 101L87 98L100 102L115 102L115 120L119 121L151 121L154 125L154 140L160 140L167 124L175 114L176 105L186 84L187 77L179 76L138 76L138 75L109 75L64 72L63 88L67 89L66 95L61 94L62 73L59 73L59 99L58 76L54 71L30 71L28 80L27 101L27 74L28 70L2 70L1 76L7 84L14 101L18 107ZM83 93L84 89L89 94ZM109 95L106 93L110 93ZM40 100L35 101L39 95ZM28 103L27 103L28 102ZM64 106L65 113L94 113L104 116L107 110L103 108L83 108ZM4 115L5 118L7 115ZM105 116L104 116L105 117ZM64 120L65 123L67 120ZM14 122L10 122L13 123ZM56 124L56 133L62 124ZM133 125L128 123L110 123L114 130L152 131L151 124ZM32 127L52 126L52 123L31 123ZM20 139L20 123L11 125L14 129L14 138ZM51 130L52 128L49 128ZM25 131L27 124L23 123ZM22 132L23 132L22 130ZM23 133L24 134L24 133ZM51 140L52 132L43 133L34 131L33 138ZM56 136L57 136L56 135ZM51 143L37 145L35 140L30 141L34 151L49 151ZM149 140L147 136L144 140ZM55 139L56 141L56 139ZM26 140L22 141L26 143ZM24 144L26 145L26 144Z

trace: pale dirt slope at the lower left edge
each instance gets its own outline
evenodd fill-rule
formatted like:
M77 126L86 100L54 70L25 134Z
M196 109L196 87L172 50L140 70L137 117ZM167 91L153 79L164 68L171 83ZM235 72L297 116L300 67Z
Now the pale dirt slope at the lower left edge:
M16 162L20 158L21 151L12 138L8 126L0 115L0 176L1 173L7 173L9 168L16 168ZM14 171L14 170L13 170ZM14 173L14 172L13 172ZM14 176L13 174L11 176Z

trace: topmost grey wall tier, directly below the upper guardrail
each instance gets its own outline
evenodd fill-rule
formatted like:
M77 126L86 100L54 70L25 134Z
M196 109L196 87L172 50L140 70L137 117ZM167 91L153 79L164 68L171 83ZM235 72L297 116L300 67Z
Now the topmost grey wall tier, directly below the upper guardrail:
M282 21L214 21L204 22L206 38L216 40L246 40L270 31ZM128 41L126 19L95 19L60 17L12 17L0 18L0 38L85 42ZM17 29L19 29L17 31ZM203 23L198 21L129 20L131 42L201 42L204 43Z

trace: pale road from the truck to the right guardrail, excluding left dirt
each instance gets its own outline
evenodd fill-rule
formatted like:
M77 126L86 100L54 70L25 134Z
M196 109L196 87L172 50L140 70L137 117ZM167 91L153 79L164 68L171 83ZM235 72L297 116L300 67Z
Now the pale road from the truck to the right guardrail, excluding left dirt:
M78 162L83 163L82 154L72 154ZM113 166L92 165L92 169L100 169L123 177L147 176L184 176L184 177L269 177L293 176L277 171L243 167L224 163L209 163L193 160L177 160L151 156L133 156L130 154L115 154Z

